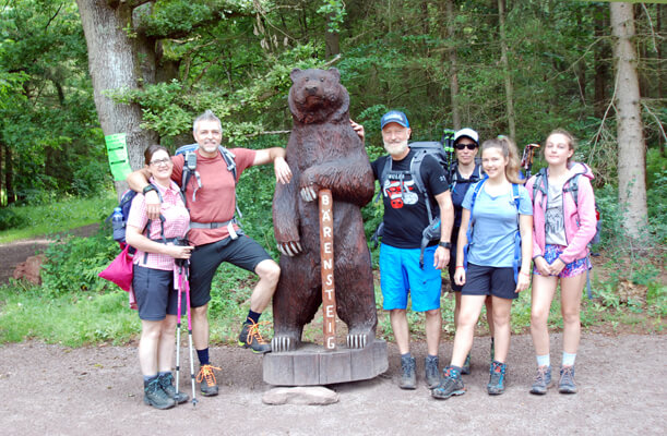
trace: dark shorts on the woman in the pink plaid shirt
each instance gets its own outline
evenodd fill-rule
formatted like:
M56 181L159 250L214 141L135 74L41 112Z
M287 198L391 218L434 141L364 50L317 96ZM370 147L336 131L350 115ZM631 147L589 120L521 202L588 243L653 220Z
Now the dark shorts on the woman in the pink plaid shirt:
M174 271L134 265L132 288L136 296L139 318L163 320L178 314L178 291L174 289ZM186 294L181 294L181 314L186 312Z

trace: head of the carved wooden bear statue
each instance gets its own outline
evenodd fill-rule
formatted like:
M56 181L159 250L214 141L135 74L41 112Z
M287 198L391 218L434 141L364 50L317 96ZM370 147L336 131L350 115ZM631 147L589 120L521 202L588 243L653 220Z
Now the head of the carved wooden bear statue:
M289 110L296 122L313 124L347 121L349 95L341 85L341 73L329 70L294 69L289 74Z

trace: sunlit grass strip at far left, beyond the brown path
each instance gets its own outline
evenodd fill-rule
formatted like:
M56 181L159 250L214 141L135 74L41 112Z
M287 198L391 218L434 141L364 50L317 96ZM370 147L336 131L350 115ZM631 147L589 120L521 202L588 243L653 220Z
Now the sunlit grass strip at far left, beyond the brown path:
M117 202L116 194L107 191L95 198L67 198L47 205L12 207L11 210L19 217L20 225L0 231L0 243L64 232L100 222L110 214Z

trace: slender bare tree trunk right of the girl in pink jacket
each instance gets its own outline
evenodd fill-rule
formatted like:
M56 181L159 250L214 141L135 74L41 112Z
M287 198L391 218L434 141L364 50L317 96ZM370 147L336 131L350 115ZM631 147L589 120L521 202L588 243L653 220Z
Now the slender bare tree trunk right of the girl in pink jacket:
M610 3L618 136L618 185L621 222L628 235L641 242L646 234L646 148L640 113L634 14L630 3ZM641 244L638 244L642 246ZM636 246L636 245L635 245Z

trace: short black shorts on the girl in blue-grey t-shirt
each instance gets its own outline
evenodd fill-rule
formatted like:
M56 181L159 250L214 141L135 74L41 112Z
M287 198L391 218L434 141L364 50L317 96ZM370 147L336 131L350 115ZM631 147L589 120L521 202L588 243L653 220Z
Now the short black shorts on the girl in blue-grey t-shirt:
M462 295L493 295L501 299L514 300L519 296L514 268L497 268L493 266L479 266L468 263L465 274L465 284Z

